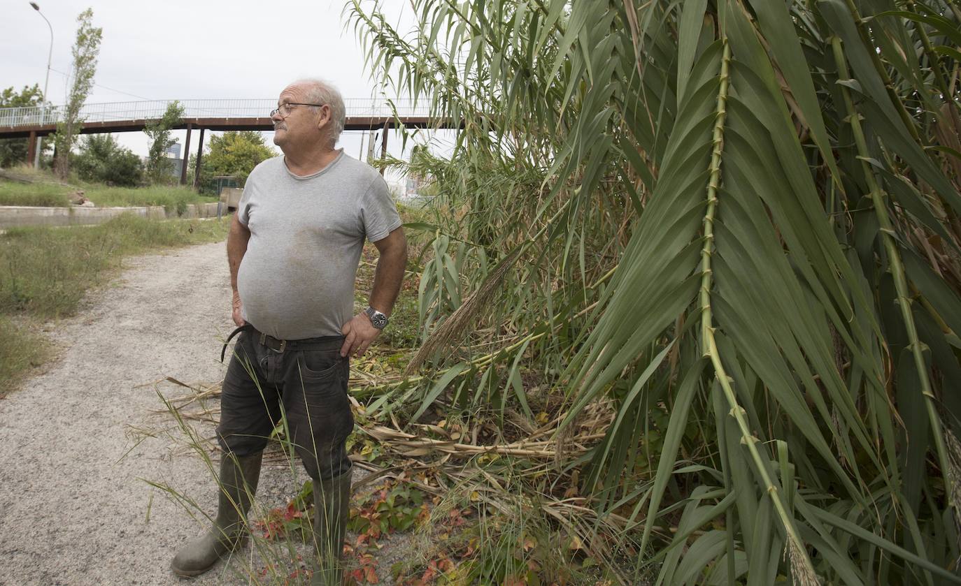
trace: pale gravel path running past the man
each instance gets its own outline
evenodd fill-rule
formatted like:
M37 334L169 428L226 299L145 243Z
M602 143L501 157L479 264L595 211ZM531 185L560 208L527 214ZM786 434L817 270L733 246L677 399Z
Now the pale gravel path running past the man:
M0 584L250 583L238 574L251 566L249 546L193 580L170 572L174 552L206 521L148 481L211 514L216 494L182 436L137 433L170 423L155 412L163 404L154 382L223 376L220 348L233 329L224 245L126 266L79 316L49 325L59 359L0 399ZM212 435L209 424L196 430ZM365 474L355 467L355 481ZM283 506L305 480L299 467L265 466L259 506Z

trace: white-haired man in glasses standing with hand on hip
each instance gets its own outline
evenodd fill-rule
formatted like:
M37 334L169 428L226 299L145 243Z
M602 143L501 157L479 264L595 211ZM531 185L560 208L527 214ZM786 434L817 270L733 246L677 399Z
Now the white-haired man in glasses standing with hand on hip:
M174 557L175 574L207 572L246 537L267 438L283 422L313 479L312 584L340 584L354 427L350 356L387 325L407 265L407 241L382 176L335 150L344 103L330 84L291 83L271 112L283 156L250 174L227 239L240 336L221 396L221 491L207 533ZM354 315L364 239L380 251L369 306ZM232 334L233 336L233 334Z

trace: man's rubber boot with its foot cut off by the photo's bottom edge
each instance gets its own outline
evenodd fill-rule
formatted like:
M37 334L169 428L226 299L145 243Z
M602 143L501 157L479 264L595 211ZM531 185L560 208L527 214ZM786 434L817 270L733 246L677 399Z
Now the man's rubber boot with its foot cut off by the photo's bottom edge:
M350 514L351 473L330 481L313 481L313 546L319 567L310 586L341 586L344 535Z

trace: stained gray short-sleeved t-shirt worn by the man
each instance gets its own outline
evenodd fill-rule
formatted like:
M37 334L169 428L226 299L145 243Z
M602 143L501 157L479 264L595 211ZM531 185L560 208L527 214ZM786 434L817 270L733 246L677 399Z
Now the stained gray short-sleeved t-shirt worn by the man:
M401 225L381 174L343 150L311 176L290 173L283 156L263 161L237 220L250 230L237 272L243 317L282 340L339 336L354 316L364 238Z

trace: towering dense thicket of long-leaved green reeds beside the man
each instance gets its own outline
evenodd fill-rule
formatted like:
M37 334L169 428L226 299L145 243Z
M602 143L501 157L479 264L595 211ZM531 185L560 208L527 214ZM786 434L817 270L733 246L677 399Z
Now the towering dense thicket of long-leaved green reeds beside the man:
M366 415L550 438L435 470L617 583L961 582L957 3L415 4L350 10L464 123L443 319Z

